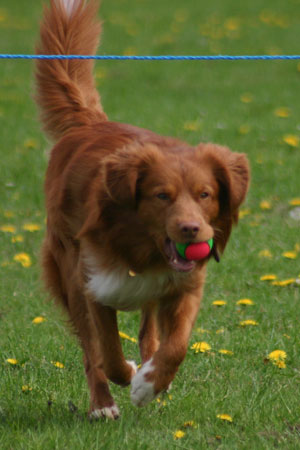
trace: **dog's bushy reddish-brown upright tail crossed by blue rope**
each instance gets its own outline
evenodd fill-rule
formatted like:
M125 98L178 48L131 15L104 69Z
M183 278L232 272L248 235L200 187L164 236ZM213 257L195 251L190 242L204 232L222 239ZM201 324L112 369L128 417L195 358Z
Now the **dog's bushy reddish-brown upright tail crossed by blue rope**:
M38 54L95 54L101 24L95 0L50 0L40 28ZM70 128L106 120L91 60L37 60L36 101L45 131L58 139Z

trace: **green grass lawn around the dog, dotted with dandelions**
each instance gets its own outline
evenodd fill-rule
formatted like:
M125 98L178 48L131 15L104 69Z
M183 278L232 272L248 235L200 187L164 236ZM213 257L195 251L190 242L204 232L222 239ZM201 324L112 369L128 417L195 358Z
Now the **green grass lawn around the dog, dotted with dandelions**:
M41 2L3 0L3 53L32 53ZM179 0L111 0L102 5L107 54L263 54L298 52L299 0L263 7ZM0 126L0 448L1 449L298 449L300 435L299 285L274 286L300 275L300 72L297 62L102 62L96 76L113 120L190 143L213 141L247 153L252 185L244 215L217 265L209 265L203 306L172 397L134 408L128 389L112 387L119 421L89 423L82 355L40 282L44 232L43 178L50 148L32 100L33 64L1 61ZM247 95L245 95L247 94ZM278 117L278 108L288 108ZM284 141L291 135L290 145ZM262 209L267 201L269 209ZM248 213L248 214L247 214ZM24 225L36 224L36 231ZM4 228L5 230L5 228ZM16 236L21 236L16 240ZM13 239L14 238L14 239ZM12 242L12 239L15 242ZM268 252L260 253L264 250ZM283 253L294 251L294 259ZM26 253L31 264L14 260ZM237 300L254 305L239 306ZM214 300L226 304L216 307ZM35 317L46 320L34 324ZM120 314L120 329L136 337L138 313ZM251 319L257 325L242 327ZM204 330L204 331L203 331ZM221 330L221 332L220 332ZM129 358L137 345L124 340ZM233 355L223 355L227 349ZM286 368L270 362L276 349ZM7 359L15 358L13 365ZM64 368L53 363L61 362ZM27 392L22 386L28 386ZM228 414L232 422L217 418ZM184 423L193 421L193 426ZM174 439L173 433L185 434Z

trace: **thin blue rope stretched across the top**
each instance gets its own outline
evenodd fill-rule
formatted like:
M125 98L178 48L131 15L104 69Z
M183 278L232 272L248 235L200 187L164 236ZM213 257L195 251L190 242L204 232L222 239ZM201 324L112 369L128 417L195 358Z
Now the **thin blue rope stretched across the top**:
M297 60L300 55L160 55L160 56L136 56L136 55L14 55L1 54L0 59L94 59L117 61L253 61L253 60Z

